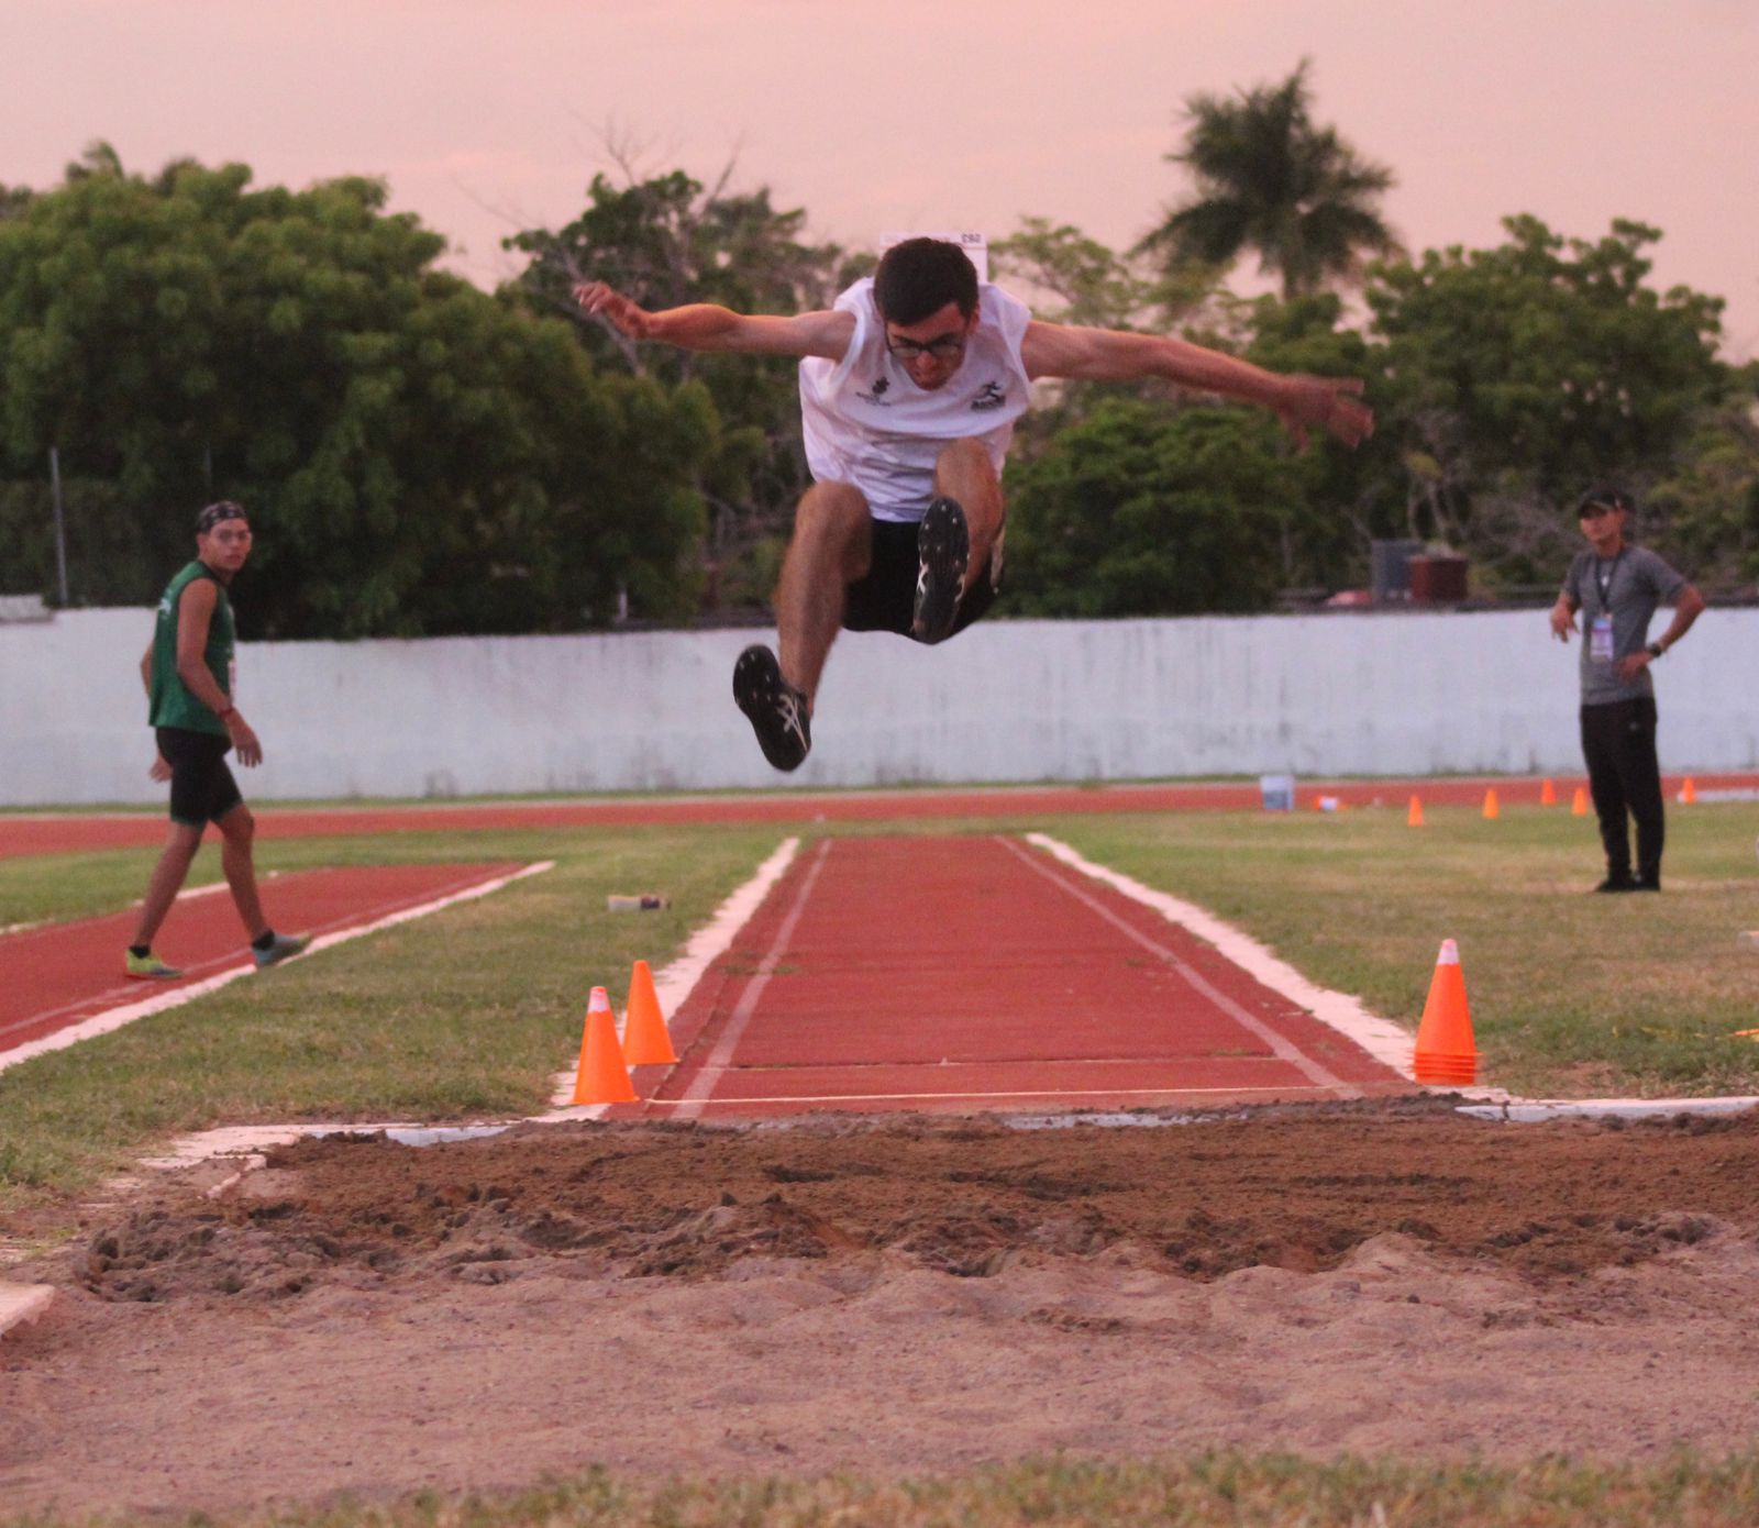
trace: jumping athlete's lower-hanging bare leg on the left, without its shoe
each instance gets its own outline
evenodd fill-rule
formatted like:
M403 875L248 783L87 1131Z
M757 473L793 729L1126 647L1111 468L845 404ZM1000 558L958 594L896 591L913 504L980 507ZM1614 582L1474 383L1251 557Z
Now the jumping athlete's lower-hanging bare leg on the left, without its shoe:
M830 644L843 629L844 587L872 566L867 499L850 484L813 484L793 517L793 540L776 584L781 673L804 689L807 712Z

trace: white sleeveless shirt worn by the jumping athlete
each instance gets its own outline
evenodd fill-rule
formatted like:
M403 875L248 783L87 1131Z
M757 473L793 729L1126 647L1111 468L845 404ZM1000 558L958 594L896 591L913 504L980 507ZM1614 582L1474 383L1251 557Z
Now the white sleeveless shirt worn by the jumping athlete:
M950 440L983 441L1001 473L1029 382L1020 341L1031 309L989 281L978 285L978 327L952 380L925 390L885 348L872 278L836 306L855 315L843 360L800 362L806 461L818 482L853 484L878 520L920 520L934 498L934 462Z

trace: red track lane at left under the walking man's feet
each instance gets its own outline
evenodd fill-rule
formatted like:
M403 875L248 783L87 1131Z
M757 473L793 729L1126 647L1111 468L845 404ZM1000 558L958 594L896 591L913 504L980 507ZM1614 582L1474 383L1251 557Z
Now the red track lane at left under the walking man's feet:
M456 897L517 865L362 865L296 870L262 888L276 928L320 937ZM51 923L0 937L0 1057L99 1015L193 986L252 964L232 899L220 891L181 897L157 950L183 969L181 981L130 981L123 951L135 913Z

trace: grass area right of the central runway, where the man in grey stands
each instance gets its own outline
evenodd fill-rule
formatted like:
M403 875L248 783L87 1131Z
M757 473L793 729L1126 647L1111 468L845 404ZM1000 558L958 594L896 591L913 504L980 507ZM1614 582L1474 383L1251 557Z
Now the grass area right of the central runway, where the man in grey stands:
M1599 839L1564 807L1404 804L1066 819L1084 855L1198 902L1412 1030L1460 946L1481 1080L1530 1095L1759 1094L1759 805L1668 816L1660 897L1595 897Z

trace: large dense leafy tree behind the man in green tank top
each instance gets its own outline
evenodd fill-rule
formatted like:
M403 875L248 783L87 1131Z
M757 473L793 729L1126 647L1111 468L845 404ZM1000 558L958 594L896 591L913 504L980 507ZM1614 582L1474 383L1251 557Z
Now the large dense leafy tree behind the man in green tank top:
M146 603L195 506L237 498L259 637L579 629L624 593L688 614L707 396L595 376L570 325L436 271L440 236L383 202L95 153L30 197L0 222L0 515L58 447L76 598Z

